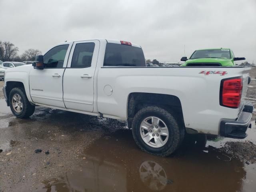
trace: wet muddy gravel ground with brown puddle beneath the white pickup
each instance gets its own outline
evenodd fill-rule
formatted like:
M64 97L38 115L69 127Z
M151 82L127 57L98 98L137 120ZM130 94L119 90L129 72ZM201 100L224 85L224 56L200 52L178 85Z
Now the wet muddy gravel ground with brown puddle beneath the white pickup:
M256 69L251 77L255 106ZM247 133L206 144L192 137L161 158L138 149L126 122L44 107L23 120L0 98L0 192L255 192L256 164L221 150L230 141L256 144L254 121Z

